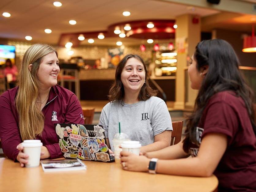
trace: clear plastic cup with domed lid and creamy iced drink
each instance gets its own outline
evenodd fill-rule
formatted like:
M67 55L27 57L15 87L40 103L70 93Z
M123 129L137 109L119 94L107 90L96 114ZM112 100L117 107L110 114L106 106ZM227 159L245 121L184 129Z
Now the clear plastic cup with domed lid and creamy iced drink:
M130 138L127 134L125 133L117 133L114 135L114 138L112 140L113 142L113 152L115 154L115 162L120 164L121 163L121 159L119 157L120 152L122 151L121 148L119 148L119 146L124 142L124 141L130 141Z

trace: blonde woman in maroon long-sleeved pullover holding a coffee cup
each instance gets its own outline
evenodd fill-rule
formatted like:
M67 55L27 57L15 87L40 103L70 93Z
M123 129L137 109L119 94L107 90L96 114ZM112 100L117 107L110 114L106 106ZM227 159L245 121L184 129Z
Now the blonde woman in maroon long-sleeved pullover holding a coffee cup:
M3 152L21 167L28 162L22 141L40 139L41 159L54 159L62 156L54 124L84 122L75 94L57 85L58 62L52 47L32 45L22 59L18 86L0 96Z

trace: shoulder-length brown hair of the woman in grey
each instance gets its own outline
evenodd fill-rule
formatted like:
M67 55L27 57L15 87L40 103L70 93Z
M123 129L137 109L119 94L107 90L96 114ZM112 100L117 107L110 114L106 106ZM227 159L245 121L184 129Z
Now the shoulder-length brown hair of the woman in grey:
M147 68L146 68L146 65L145 65L143 59L139 55L128 54L119 62L118 66L116 68L115 82L111 86L111 88L109 90L109 95L108 95L108 99L110 102L113 102L113 101L123 102L124 87L123 87L123 84L121 81L121 73L122 73L122 70L123 70L127 60L130 58L136 58L138 61L140 61L143 64L144 70L145 70L145 83L141 87L141 91L138 95L138 100L144 101L144 100L149 99L151 96L156 96L156 94L157 94L157 91L153 90L149 86L149 76L148 76Z

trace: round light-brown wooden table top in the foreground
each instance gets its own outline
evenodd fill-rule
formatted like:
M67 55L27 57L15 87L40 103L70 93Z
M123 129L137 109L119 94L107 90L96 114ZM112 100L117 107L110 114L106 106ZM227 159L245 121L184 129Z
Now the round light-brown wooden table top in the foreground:
M21 168L19 163L0 158L0 191L13 192L106 192L106 191L214 191L216 176L184 177L124 171L120 164L83 161L84 171L43 172L41 166Z

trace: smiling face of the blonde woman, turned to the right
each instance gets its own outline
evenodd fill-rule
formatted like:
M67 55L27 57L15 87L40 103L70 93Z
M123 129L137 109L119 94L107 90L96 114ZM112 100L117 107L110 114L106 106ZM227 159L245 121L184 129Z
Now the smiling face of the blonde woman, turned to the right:
M43 56L37 71L41 89L48 89L57 84L57 77L60 71L58 63L59 60L55 52Z

